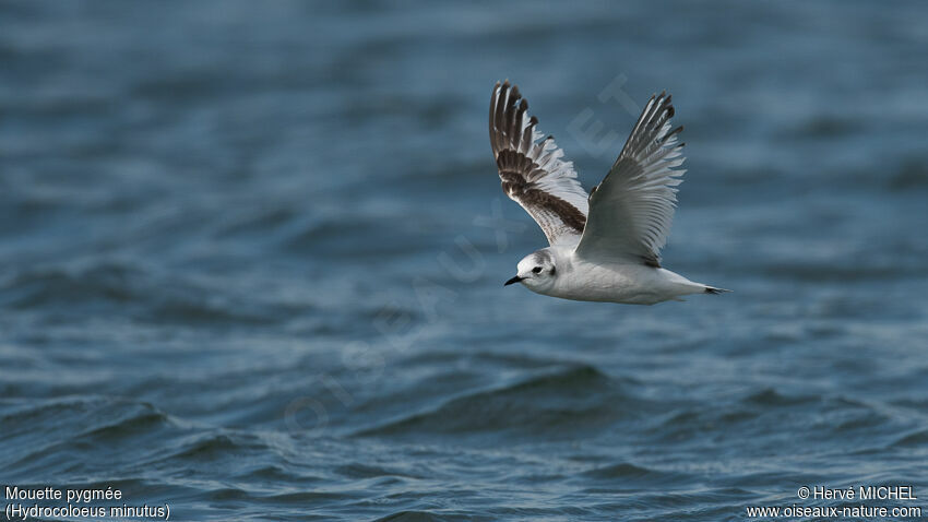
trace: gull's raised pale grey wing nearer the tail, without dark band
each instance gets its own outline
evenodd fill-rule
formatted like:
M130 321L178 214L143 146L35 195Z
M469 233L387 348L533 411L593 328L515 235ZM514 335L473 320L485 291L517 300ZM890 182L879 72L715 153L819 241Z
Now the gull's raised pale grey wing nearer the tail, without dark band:
M641 262L661 266L677 185L686 171L682 143L670 130L670 95L652 96L609 174L590 194L590 215L576 247L591 261Z

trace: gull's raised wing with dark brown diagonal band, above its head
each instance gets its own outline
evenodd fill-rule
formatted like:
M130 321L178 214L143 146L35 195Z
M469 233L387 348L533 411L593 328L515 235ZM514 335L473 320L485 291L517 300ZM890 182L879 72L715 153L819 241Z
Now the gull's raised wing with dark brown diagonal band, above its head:
M542 139L519 87L497 82L490 100L490 145L502 191L535 220L551 246L574 246L586 224L586 191L554 137Z

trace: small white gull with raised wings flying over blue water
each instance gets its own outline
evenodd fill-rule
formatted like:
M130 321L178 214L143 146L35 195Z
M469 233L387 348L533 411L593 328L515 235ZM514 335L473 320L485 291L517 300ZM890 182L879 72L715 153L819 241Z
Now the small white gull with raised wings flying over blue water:
M609 174L590 195L554 137L543 138L519 87L497 82L490 145L502 190L535 220L547 248L530 253L505 285L546 296L654 305L690 294L730 292L694 283L661 266L676 186L686 171L683 144L671 129L670 95L652 96Z

